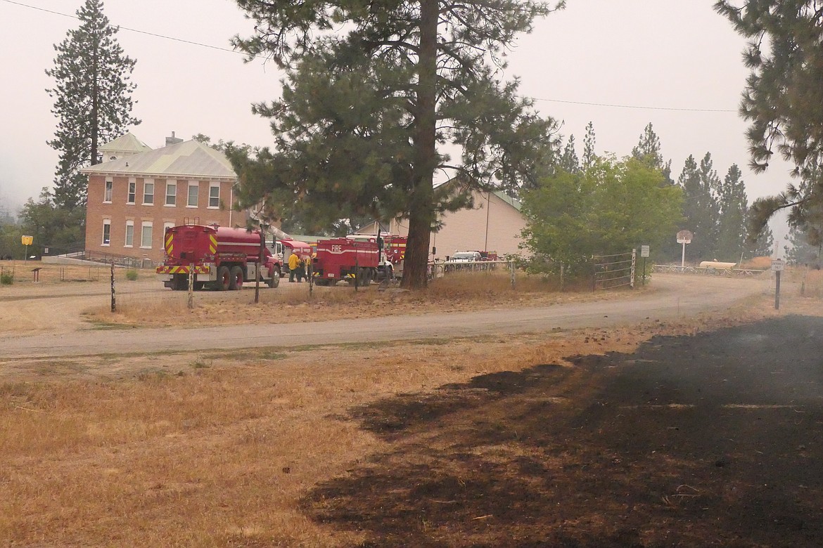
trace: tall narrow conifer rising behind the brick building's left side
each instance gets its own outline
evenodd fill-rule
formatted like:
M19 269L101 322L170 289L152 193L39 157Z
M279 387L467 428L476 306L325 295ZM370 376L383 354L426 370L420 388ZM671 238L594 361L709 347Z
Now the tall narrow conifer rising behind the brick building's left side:
M54 67L46 71L55 81L46 91L58 118L49 140L59 153L53 203L68 209L86 205L88 178L77 170L100 163L99 146L140 123L131 115L135 61L115 38L119 27L109 24L100 0L86 0L77 18L80 26L54 46Z

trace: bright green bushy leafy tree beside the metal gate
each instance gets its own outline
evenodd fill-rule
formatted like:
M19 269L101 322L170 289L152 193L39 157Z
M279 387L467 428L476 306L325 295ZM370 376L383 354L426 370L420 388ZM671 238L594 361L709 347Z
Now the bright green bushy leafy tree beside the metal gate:
M523 193L524 246L570 268L588 272L592 255L657 249L677 232L682 192L665 186L658 169L637 159L595 159L580 173L559 170Z

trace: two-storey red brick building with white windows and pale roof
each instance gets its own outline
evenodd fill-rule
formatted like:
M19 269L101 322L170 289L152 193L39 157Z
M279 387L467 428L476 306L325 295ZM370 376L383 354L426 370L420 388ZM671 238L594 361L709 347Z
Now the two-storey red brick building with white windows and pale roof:
M166 227L245 226L245 214L231 209L237 175L226 155L196 140L166 142L151 150L127 134L100 147L104 163L81 169L89 176L86 250L156 263Z

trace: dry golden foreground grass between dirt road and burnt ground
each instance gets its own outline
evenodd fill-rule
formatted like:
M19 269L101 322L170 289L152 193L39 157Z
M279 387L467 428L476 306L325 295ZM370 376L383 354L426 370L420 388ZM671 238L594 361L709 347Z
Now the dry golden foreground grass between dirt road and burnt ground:
M468 290L453 280L451 288L433 284L430 299L454 304L454 292ZM523 282L523 299L539 293L526 292L527 283L539 282ZM472 286L492 302L511 299L500 280ZM372 307L423 301L338 289ZM780 313L820 303L788 292ZM310 520L300 500L388 449L348 418L352 408L778 314L770 297L749 304L630 329L0 361L0 545L351 546L355 532Z

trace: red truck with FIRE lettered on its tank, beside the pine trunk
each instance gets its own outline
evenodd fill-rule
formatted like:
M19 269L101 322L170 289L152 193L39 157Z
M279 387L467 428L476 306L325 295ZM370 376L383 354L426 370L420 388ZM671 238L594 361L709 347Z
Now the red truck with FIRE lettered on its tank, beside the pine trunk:
M392 279L402 269L406 238L397 236L338 237L317 242L312 260L314 283L334 285L340 280L367 286L372 280Z

